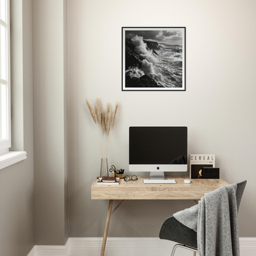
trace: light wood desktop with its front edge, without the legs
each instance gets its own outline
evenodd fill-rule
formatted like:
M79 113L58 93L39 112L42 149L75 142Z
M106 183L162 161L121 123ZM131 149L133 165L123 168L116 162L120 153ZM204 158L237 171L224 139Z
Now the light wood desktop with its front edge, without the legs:
M189 177L167 177L174 179L176 184L144 184L143 179L138 177L136 181L125 182L120 179L119 185L97 185L98 177L95 178L91 187L92 199L114 200L143 200L143 199L201 199L205 193L214 191L221 186L226 186L220 179L190 179ZM184 180L190 179L190 184Z

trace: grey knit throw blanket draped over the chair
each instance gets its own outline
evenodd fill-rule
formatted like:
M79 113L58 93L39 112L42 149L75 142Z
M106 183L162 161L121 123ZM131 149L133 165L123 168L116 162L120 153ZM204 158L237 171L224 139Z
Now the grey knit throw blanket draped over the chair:
M206 193L199 204L174 214L198 233L200 256L239 256L236 184Z

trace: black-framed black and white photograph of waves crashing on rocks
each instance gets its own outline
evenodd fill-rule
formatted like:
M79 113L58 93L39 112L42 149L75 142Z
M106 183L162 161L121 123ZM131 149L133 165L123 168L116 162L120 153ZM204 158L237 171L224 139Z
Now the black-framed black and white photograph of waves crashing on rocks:
M186 90L185 27L122 27L122 90Z

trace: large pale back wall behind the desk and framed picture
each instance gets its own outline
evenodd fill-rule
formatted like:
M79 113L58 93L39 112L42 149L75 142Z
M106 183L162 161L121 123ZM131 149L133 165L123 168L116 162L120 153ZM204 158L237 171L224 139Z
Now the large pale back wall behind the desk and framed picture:
M250 0L68 1L70 237L103 236L108 206L90 199L101 156L86 97L112 109L119 101L108 161L126 174L129 126L188 126L188 154L215 154L224 180L248 180L239 234L256 236L255 12ZM185 92L121 91L122 26L186 26ZM157 237L165 218L193 204L126 201L109 235Z

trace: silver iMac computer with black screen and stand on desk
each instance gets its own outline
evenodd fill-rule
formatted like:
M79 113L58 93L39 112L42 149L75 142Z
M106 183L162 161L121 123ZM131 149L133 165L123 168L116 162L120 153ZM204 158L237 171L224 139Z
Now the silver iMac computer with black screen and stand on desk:
M187 149L187 127L129 127L130 172L150 172L152 179L164 179L164 172L186 172Z

